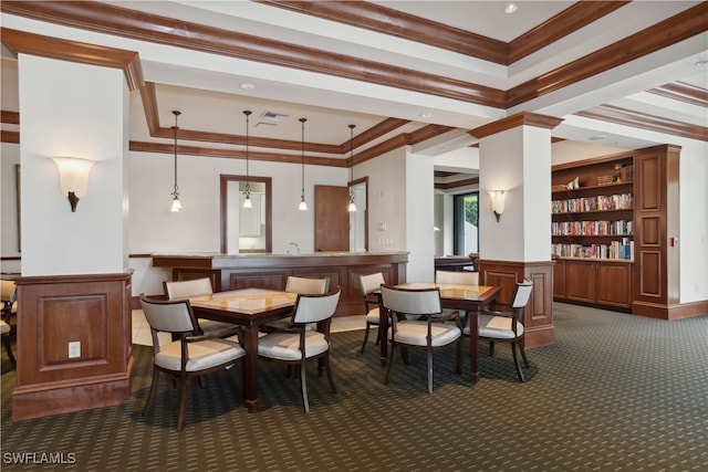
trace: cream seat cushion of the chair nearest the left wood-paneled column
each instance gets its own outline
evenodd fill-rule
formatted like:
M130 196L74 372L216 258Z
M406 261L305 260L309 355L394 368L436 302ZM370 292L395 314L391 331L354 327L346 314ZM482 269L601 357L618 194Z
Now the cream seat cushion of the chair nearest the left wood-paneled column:
M181 370L181 346L179 340L171 342L155 355L155 365L164 369ZM220 364L243 357L246 352L239 344L238 336L223 339L207 339L188 343L186 370L188 373L208 369Z

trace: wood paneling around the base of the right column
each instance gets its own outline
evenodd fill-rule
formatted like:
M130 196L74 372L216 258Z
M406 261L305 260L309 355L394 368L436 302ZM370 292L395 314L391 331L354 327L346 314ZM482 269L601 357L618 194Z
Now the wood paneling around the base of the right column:
M499 301L509 302L517 282L533 282L531 300L524 311L525 347L546 346L555 340L553 327L553 261L517 262L480 259L479 283L500 285Z

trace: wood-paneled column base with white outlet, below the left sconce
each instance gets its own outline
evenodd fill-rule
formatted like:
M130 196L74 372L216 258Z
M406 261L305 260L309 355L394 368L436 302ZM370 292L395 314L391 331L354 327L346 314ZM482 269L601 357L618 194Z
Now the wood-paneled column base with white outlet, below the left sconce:
M17 280L13 421L129 400L132 274Z

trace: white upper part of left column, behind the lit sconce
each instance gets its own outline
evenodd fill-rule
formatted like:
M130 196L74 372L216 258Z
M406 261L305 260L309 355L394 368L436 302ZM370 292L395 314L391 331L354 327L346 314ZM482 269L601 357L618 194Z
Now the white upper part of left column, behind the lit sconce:
M127 269L128 92L119 69L20 54L22 275ZM95 161L71 211L52 157Z

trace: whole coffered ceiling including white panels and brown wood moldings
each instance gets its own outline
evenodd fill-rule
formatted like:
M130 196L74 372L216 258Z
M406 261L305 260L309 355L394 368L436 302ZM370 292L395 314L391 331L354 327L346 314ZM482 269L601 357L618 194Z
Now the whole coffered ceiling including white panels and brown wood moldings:
M508 3L3 0L3 140L23 52L123 67L133 150L171 149L173 109L180 151L242 158L249 109L253 158L296 161L304 117L308 161L334 166L350 124L354 162L468 148L518 113L563 118L556 139L708 140L706 2Z

